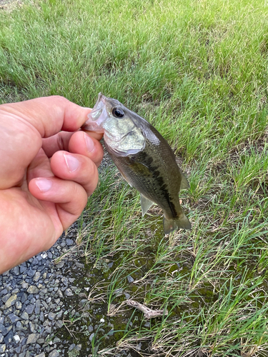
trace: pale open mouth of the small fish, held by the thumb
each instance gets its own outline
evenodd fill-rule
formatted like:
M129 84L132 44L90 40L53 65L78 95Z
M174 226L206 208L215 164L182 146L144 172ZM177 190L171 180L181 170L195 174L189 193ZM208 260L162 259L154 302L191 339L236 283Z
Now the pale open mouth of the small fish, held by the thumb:
M82 129L96 131L96 133L104 133L104 128L102 127L102 125L107 119L107 116L109 116L106 110L106 101L106 96L99 93L98 100L96 101L96 104L87 116L89 119L82 126Z

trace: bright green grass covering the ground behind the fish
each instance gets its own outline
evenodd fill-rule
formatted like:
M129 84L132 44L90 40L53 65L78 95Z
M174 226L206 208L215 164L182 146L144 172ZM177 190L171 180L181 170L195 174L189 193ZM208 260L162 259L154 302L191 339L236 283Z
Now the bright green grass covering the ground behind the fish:
M101 171L82 234L95 268L114 261L98 293L108 312L121 288L169 313L148 327L129 311L117 346L94 340L99 356L139 341L150 356L267 356L267 16L260 0L0 10L0 103L60 94L93 106L101 91L154 124L189 178L192 231L165 237L162 211L142 218L137 191L112 166Z

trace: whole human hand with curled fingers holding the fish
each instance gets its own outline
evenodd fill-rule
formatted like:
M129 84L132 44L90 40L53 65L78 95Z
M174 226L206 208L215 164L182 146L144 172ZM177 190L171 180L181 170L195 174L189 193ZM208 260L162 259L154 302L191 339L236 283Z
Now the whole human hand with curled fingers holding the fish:
M50 248L96 188L100 134L61 96L0 106L0 273Z

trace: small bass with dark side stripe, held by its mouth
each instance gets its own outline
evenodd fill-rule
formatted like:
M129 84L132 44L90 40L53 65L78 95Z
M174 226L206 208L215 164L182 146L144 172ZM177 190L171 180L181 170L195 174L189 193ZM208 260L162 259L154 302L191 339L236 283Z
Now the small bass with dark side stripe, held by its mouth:
M179 191L189 188L189 183L172 148L154 126L99 93L81 129L104 134L104 146L121 176L141 195L142 216L156 203L164 211L164 233L191 229L179 203Z

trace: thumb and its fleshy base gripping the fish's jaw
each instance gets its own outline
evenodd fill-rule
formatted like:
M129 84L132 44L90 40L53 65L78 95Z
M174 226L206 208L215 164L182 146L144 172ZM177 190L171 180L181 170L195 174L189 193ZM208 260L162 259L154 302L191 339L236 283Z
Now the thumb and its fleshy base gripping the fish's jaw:
M61 96L0 106L0 188L20 186L26 168L42 146L41 138L76 131L90 109Z

